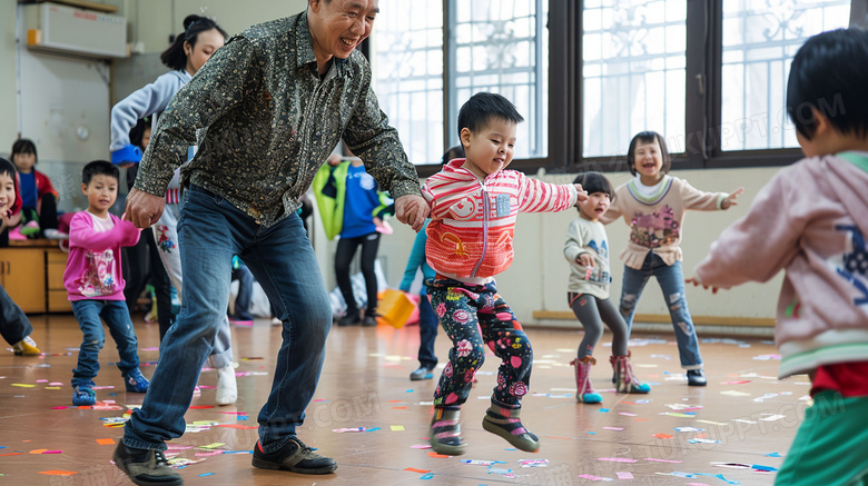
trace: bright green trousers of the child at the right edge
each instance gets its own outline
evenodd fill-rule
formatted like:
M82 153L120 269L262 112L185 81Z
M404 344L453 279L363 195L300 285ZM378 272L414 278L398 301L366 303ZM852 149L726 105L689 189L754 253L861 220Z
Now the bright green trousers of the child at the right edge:
M861 486L868 482L868 397L815 395L805 410L778 486Z

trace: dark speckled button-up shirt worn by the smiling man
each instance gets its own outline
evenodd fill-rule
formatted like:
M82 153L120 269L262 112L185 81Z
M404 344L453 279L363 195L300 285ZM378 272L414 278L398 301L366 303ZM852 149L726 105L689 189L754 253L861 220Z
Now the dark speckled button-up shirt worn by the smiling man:
M416 170L371 89L361 52L317 73L307 13L231 38L175 95L141 160L136 189L165 195L174 170L269 227L295 211L343 138L393 198L420 195Z

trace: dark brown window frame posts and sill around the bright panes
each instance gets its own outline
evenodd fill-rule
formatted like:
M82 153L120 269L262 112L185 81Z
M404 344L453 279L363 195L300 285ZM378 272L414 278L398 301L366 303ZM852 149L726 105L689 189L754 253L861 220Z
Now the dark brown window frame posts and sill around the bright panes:
M798 148L727 150L720 149L722 98L722 24L723 0L687 1L685 113L687 151L672 153L672 168L734 169L746 167L782 167L801 157ZM442 0L444 12L443 70L444 145L451 137L448 107L455 87L448 82L452 63L447 40L455 24L453 0ZM624 156L583 157L582 111L582 2L549 0L549 140L546 157L513 159L511 169L535 173L544 169L552 173L582 170L627 170ZM868 0L850 0L850 24L868 23ZM717 132L716 132L716 127ZM665 133L663 133L665 136ZM444 151L448 147L444 147ZM627 149L624 147L624 149ZM437 170L438 165L416 166L421 177Z

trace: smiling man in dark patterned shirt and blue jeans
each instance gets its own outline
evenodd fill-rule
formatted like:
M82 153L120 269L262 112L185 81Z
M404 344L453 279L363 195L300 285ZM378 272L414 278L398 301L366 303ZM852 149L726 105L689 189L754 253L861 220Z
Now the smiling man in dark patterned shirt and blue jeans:
M233 255L262 284L284 326L253 465L302 474L337 468L296 435L332 325L298 198L343 139L392 194L398 220L418 230L428 214L415 168L371 90L371 68L356 51L377 11L377 0L309 0L303 13L250 27L218 49L160 117L127 198L126 217L136 226L159 218L172 172L188 146L199 149L181 169L184 306L114 457L134 483L184 483L162 452L166 440L184 434L184 414L228 305ZM200 129L207 130L197 140Z

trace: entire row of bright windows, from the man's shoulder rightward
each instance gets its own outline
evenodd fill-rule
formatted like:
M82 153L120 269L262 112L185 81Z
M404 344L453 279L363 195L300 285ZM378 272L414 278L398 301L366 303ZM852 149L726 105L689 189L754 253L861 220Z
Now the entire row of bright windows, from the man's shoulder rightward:
M679 168L789 163L792 56L868 0L442 0L382 4L375 90L412 162L457 145L477 91L524 116L512 168L622 170L638 131ZM431 169L427 169L431 170ZM420 170L425 175L426 170ZM430 172L428 172L430 173Z

